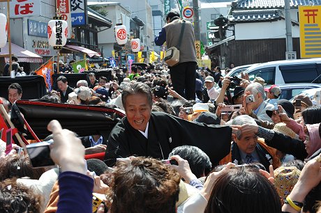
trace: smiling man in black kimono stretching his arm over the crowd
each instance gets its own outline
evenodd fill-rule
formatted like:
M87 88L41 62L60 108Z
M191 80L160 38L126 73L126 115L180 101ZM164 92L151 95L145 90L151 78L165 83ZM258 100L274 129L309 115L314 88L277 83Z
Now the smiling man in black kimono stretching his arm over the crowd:
M116 158L131 155L167 159L179 145L197 146L214 165L230 152L230 127L200 125L167 113L151 113L151 90L146 84L128 84L121 100L126 117L110 133L105 153L108 166L113 166Z

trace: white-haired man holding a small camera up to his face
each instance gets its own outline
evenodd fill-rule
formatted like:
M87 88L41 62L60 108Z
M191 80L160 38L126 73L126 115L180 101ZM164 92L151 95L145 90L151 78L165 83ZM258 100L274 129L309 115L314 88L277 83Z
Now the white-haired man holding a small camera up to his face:
M246 114L253 118L258 118L260 120L267 120L273 122L271 118L267 115L267 110L273 111L274 105L269 104L264 101L265 92L264 87L260 83L249 84L245 89L244 100L248 95L253 95L253 102L244 102Z

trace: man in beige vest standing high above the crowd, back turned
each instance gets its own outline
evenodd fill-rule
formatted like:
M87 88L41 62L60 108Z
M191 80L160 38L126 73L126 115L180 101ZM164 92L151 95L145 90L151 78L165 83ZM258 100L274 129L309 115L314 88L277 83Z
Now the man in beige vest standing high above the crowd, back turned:
M170 68L170 77L174 90L186 100L195 100L195 72L196 72L196 50L195 36L191 22L182 21L179 13L170 11L166 15L167 24L155 38L158 46L166 42L167 48L179 45L179 36L183 22L185 28L181 47L179 47L179 63Z

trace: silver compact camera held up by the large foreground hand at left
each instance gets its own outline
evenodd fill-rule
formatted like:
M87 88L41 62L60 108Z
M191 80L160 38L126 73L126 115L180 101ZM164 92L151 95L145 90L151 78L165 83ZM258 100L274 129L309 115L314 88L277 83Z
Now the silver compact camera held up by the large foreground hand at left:
M53 140L31 143L26 146L33 167L54 166L50 157L50 144Z

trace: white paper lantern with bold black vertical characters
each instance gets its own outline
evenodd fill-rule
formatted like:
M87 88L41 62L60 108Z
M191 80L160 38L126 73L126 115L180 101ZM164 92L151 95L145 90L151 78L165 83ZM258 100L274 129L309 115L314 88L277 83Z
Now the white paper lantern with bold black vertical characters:
M61 49L67 42L68 23L61 19L52 19L48 22L48 42L54 49Z

